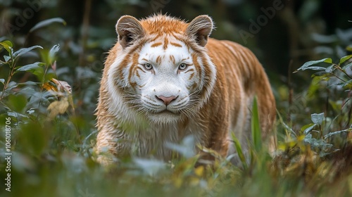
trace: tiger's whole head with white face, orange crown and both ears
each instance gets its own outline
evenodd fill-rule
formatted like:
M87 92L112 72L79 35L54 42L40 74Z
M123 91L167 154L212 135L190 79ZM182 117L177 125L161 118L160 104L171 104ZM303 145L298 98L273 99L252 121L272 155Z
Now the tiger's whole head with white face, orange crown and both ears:
M117 55L108 70L108 91L122 96L114 105L124 102L156 123L194 115L215 84L216 68L205 48L212 30L207 15L191 23L166 15L122 16L116 24Z

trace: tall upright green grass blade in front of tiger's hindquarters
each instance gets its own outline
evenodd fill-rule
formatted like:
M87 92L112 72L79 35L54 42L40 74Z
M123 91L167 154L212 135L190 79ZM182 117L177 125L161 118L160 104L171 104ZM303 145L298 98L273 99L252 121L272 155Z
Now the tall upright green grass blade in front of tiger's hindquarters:
M252 129L252 140L255 150L258 152L262 148L261 132L260 132L260 121L258 113L257 97L253 98L252 118L251 118L251 129Z

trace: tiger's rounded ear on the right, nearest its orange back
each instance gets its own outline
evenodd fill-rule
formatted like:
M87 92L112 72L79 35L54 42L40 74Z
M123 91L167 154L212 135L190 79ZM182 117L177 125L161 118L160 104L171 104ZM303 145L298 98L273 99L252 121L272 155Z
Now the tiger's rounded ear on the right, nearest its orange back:
M208 15L199 15L189 23L186 34L196 39L200 46L206 46L208 36L213 30L213 20Z

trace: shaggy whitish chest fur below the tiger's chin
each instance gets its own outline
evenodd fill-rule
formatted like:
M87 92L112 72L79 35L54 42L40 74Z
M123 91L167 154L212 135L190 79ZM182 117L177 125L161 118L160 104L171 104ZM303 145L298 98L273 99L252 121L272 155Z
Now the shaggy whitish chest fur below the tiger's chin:
M129 148L132 155L170 160L175 153L183 150L192 154L195 153L197 144L204 145L203 131L196 122L187 122L186 125L144 124L137 127L139 129L130 135L132 143Z

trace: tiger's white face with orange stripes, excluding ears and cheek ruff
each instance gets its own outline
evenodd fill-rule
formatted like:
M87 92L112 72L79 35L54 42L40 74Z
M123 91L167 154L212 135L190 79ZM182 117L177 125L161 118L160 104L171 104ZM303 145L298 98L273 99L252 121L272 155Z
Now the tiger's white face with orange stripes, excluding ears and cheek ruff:
M165 40L142 47L130 78L130 83L136 84L134 94L139 95L137 110L161 122L179 118L192 108L196 91L201 88L199 72L185 44L165 44Z

